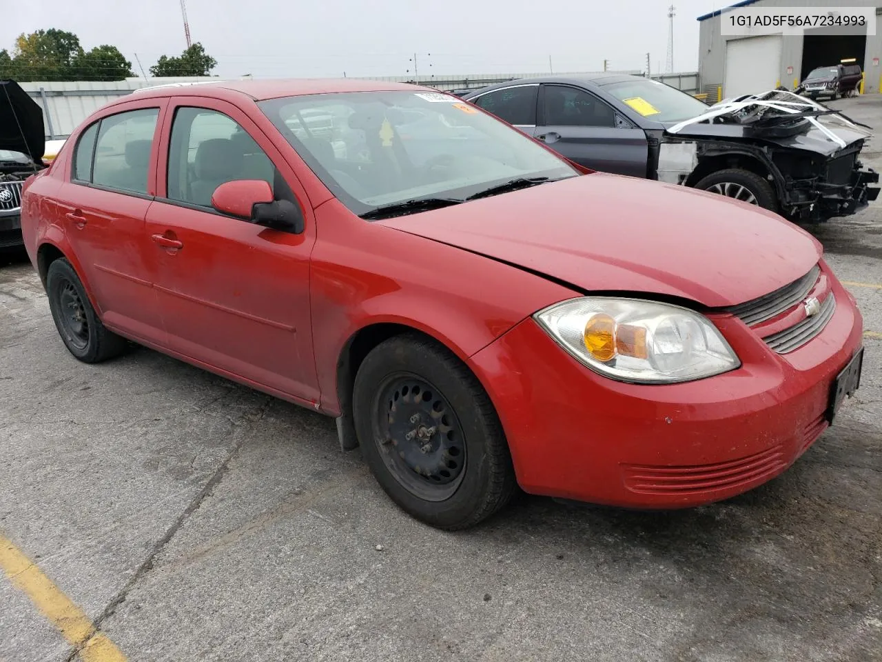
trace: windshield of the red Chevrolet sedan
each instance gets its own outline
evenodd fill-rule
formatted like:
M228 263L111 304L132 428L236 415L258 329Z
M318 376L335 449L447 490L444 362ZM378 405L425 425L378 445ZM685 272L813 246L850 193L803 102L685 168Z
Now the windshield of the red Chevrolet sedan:
M513 179L579 176L517 129L447 94L309 94L259 106L355 214L415 199L460 202Z

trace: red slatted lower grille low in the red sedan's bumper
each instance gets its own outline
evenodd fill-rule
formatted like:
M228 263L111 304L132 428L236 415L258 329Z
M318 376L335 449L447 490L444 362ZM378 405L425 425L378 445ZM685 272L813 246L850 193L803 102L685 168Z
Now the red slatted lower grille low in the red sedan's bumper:
M690 494L728 490L774 475L787 466L781 446L729 462L691 467L629 465L624 485L641 494Z

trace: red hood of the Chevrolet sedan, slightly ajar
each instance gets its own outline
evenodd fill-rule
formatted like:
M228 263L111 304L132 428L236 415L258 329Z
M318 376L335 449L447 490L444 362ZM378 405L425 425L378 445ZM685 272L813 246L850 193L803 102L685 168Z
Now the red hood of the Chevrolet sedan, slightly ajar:
M709 307L793 282L822 251L759 207L606 173L379 222L577 290L652 292Z

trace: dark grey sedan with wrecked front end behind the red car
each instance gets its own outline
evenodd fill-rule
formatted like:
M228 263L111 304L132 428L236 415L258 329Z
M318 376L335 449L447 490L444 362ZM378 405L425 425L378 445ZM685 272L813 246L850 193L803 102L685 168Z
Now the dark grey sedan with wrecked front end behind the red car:
M652 79L598 73L463 98L589 169L721 193L792 221L853 214L878 196L878 173L857 160L869 132L787 91L708 107Z

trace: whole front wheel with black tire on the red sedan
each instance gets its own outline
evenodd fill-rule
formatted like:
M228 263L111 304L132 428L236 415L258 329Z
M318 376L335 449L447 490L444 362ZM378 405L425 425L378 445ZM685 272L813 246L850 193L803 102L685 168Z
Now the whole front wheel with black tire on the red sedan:
M490 398L467 366L435 342L400 335L371 350L355 376L353 416L377 482L423 523L472 527L504 508L517 489ZM411 426L407 434L419 436L407 437L402 427Z

